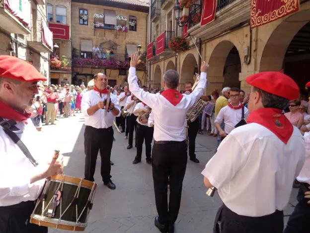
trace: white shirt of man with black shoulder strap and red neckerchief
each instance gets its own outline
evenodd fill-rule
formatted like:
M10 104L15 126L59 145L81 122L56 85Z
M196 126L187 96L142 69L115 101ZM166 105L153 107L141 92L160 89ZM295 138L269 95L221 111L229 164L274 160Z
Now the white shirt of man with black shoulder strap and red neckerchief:
M223 120L225 123L225 133L229 134L233 129L234 125L236 125L242 116L242 109L232 109L229 106L225 106L222 108L215 119L215 122L222 124ZM244 107L244 119L248 116L248 110Z

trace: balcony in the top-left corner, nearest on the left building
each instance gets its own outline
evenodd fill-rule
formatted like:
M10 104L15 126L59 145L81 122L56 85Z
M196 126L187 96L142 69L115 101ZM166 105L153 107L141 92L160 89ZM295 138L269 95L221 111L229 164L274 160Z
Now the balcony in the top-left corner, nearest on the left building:
M24 2L23 12L19 11L19 2L0 0L0 27L9 33L29 34L31 23L31 5Z

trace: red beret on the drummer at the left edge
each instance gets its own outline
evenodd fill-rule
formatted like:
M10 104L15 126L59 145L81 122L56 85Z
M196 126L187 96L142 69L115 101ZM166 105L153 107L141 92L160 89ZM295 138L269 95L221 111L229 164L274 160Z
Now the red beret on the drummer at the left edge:
M17 57L0 56L0 77L15 79L22 82L46 81L46 77L40 74L30 63Z

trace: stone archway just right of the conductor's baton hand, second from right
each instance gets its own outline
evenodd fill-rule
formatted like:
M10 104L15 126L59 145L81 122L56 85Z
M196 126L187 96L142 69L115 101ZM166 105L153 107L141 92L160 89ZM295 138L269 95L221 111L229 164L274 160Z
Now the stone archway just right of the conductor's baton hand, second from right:
M237 48L231 41L221 41L211 53L208 76L219 91L223 87L240 88L241 60ZM210 79L211 80L211 79Z

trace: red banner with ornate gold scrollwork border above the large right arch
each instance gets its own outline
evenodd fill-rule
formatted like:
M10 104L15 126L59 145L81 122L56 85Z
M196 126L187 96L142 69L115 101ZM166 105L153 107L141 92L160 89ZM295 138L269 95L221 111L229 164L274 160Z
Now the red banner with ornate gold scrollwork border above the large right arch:
M299 0L251 0L251 28L299 10Z

